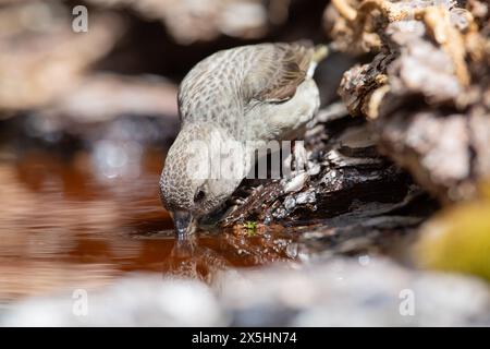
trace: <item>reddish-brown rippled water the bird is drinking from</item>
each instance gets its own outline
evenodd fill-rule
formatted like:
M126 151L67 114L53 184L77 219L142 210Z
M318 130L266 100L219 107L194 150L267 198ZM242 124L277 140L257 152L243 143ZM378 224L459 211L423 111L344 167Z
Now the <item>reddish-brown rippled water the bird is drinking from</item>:
M201 232L176 243L158 197L161 152L137 176L100 177L88 153L30 152L0 161L0 301L90 289L130 272L209 280L229 267L286 258L274 231Z

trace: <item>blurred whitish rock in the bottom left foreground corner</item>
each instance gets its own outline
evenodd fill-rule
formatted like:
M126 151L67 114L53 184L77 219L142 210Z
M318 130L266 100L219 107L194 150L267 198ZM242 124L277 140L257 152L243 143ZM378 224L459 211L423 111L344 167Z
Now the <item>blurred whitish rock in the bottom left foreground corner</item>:
M76 296L83 294L83 296ZM86 306L77 308L79 297ZM228 324L206 285L161 276L127 277L99 291L74 290L30 299L1 316L2 326L222 326Z

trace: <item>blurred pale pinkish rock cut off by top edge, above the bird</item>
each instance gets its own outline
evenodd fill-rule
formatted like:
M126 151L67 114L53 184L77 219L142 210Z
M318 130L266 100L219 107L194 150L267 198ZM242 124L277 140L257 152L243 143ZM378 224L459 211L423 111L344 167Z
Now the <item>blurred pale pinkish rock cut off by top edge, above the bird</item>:
M241 38L259 38L270 25L287 19L290 1L275 0L89 0L111 8L128 7L146 19L160 20L179 44L209 41L225 34Z

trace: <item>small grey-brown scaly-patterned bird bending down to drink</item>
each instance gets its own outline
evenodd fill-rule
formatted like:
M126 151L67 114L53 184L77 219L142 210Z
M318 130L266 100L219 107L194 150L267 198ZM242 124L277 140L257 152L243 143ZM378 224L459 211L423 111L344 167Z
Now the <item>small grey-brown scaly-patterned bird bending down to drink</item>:
M305 40L246 45L212 53L185 75L177 92L181 129L159 182L177 237L224 205L257 149L304 134L320 105L313 74L327 52ZM223 144L238 149L223 154ZM216 158L236 176L211 176Z

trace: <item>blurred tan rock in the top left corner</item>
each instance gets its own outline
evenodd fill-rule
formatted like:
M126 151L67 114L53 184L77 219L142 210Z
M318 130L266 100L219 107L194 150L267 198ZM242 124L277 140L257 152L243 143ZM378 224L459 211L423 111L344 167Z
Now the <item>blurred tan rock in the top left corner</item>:
M74 33L70 9L52 1L8 4L0 15L0 112L39 108L70 92L124 32L118 15L94 12L89 32Z

